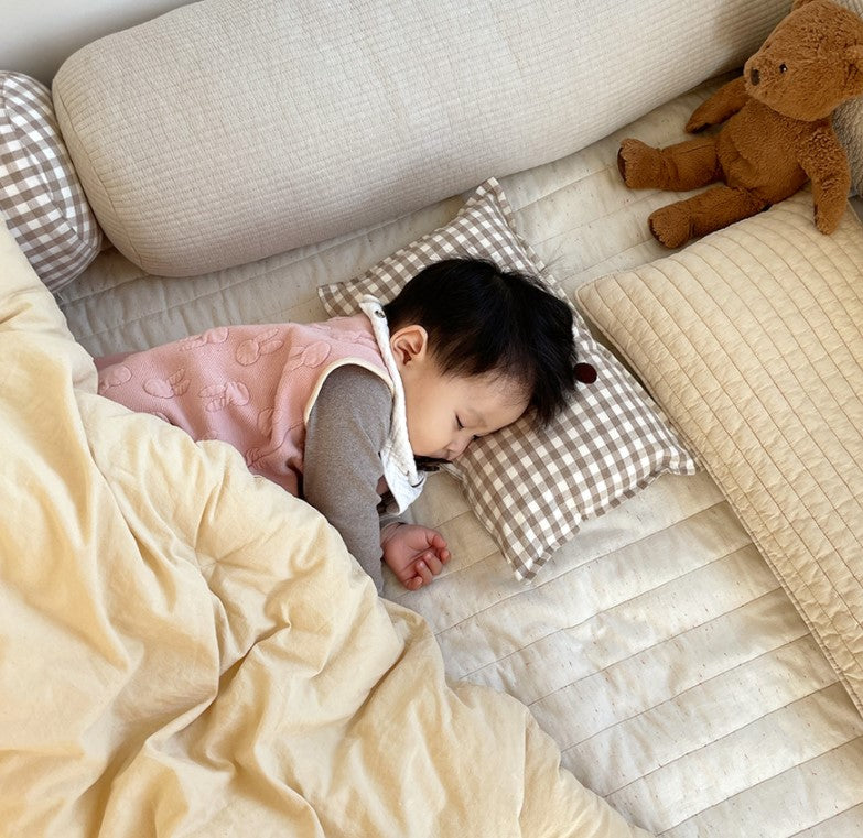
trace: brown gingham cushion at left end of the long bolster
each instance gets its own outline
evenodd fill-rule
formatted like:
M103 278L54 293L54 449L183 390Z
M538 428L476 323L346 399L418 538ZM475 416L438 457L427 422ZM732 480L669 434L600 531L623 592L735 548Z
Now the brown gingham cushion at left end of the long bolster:
M61 138L51 92L21 73L0 73L0 215L52 291L99 252L101 230Z

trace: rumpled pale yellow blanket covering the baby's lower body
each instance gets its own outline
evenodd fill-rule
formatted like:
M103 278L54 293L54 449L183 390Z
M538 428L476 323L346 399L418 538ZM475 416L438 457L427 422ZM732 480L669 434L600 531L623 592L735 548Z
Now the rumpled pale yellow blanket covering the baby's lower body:
M309 505L95 394L0 225L0 832L645 836Z

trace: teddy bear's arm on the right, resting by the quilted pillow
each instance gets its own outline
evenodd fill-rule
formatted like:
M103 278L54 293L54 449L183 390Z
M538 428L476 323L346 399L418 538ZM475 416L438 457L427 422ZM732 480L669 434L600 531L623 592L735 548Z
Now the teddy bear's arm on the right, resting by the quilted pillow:
M816 227L829 235L839 226L851 188L845 150L829 124L820 126L801 144L799 163L812 182Z

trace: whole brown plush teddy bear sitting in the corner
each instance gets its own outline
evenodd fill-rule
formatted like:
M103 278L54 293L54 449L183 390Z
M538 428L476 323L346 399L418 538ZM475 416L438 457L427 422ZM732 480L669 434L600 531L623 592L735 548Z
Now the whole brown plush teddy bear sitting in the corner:
M724 122L718 133L666 149L626 139L617 166L632 188L694 189L724 182L650 215L650 232L668 248L755 215L807 179L816 226L830 233L851 185L830 115L861 94L863 21L831 0L795 0L743 76L721 87L687 122L689 133Z

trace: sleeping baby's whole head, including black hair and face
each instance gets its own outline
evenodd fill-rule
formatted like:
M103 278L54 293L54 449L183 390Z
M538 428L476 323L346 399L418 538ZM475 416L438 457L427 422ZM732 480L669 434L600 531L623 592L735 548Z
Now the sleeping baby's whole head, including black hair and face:
M526 274L435 262L384 308L418 457L454 459L528 411L547 424L575 388L572 312Z

